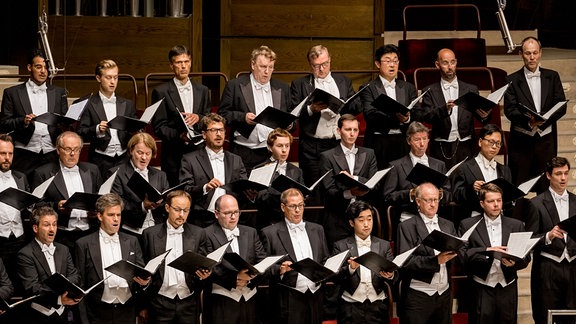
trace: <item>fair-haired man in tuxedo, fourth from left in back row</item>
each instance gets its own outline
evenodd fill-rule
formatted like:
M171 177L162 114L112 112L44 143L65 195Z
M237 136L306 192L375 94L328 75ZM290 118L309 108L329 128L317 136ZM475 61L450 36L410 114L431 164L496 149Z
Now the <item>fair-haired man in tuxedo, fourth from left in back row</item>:
M288 112L291 105L290 87L272 79L275 62L276 53L268 46L255 48L250 58L252 73L230 80L218 107L231 128L230 152L242 157L248 171L268 158L266 139L272 131L256 124L254 118L268 106Z

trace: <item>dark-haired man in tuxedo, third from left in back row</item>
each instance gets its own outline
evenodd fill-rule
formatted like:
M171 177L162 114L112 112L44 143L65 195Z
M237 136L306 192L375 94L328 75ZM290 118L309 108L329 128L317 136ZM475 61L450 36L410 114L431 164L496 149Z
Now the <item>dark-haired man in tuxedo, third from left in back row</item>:
M196 124L210 113L211 103L208 88L192 82L188 77L192 64L190 50L184 45L176 45L168 52L168 60L174 79L152 91L153 103L164 99L152 118L152 125L154 133L162 140L162 170L168 175L168 183L173 187L179 184L182 155L196 149L186 128L198 131Z

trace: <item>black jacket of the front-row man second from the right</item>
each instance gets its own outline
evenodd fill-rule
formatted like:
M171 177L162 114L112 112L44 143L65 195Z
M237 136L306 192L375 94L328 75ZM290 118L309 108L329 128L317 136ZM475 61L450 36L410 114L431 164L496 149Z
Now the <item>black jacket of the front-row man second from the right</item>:
M482 220L480 220L480 218L482 218ZM490 243L490 236L488 236L488 229L486 228L484 216L469 217L462 220L458 231L460 232L460 235L464 234L470 227L476 224L478 220L480 220L480 223L476 226L466 244L464 261L470 277L477 276L482 280L486 280L490 273L490 268L492 267L494 258L478 253L486 251L486 248L492 246ZM510 217L501 216L501 220L502 242L499 245L506 246L508 245L510 233L524 232L524 225L521 221ZM526 268L530 262L530 254L526 256L524 261L525 262L516 262L513 267L506 267L502 263L500 264L500 268L502 269L502 273L504 274L507 283L518 278L516 271Z

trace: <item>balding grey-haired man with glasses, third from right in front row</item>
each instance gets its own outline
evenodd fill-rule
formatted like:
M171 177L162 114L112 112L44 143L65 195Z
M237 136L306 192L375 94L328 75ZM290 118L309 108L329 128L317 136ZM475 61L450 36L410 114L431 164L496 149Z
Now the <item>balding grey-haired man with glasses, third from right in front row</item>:
M418 246L433 230L456 235L454 224L438 217L440 192L426 182L415 189L419 215L398 226L397 254ZM449 261L457 252L438 252L420 245L400 269L402 280L400 320L408 324L452 323Z

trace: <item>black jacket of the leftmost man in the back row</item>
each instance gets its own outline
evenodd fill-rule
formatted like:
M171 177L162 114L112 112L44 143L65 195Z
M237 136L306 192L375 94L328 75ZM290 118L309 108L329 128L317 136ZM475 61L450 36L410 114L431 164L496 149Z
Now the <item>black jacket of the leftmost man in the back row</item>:
M48 112L65 115L68 111L66 90L53 85L46 88L48 98ZM28 97L26 82L4 90L2 96L2 112L0 118L0 130L2 133L13 132L12 137L15 142L27 145L34 133L35 125L30 123L24 126L26 115L32 113L32 105ZM48 132L52 139L52 144L56 143L56 138L62 129L57 126L48 126Z

